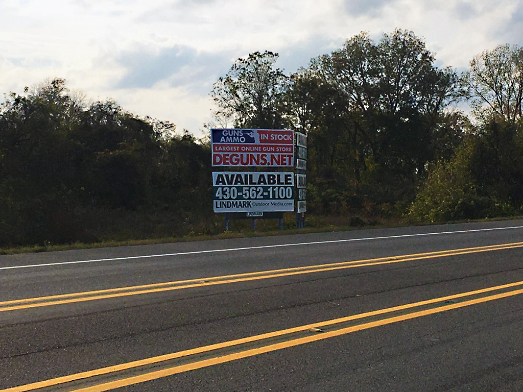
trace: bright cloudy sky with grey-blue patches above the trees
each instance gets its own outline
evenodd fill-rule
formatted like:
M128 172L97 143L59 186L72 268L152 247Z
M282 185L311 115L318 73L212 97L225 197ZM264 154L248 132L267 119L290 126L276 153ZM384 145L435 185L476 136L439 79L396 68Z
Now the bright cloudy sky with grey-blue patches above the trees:
M523 45L523 0L0 0L0 94L62 77L200 135L212 84L238 57L278 52L290 73L360 31L395 28L461 71L485 49Z

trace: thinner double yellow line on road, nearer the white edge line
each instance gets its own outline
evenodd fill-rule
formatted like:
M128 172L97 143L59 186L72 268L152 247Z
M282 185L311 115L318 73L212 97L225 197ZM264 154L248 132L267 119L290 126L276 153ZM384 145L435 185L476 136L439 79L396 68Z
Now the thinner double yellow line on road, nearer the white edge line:
M498 245L473 247L473 248L441 250L441 251L436 251L436 252L414 253L412 255L389 256L389 257L380 257L380 258L375 258L375 259L317 264L314 266L293 267L293 268L278 269L278 270L247 272L247 273L233 274L233 275L212 276L210 278L190 279L190 280L154 283L154 284L129 286L129 287L117 287L115 289L87 291L87 292L78 292L78 293L70 293L70 294L60 294L60 295L52 295L52 296L45 296L45 297L15 299L12 301L0 302L0 312L8 312L10 310L21 310L21 309L43 307L43 306L71 304L71 303L76 303L76 302L95 301L95 300L99 300L99 299L118 298L118 297L124 297L124 296L132 296L132 295L159 293L159 292L172 291L172 290L182 290L182 289L189 289L191 287L202 287L202 286L212 286L212 285L219 285L219 284L229 284L229 283L237 283L237 282L262 280L262 279L272 279L272 278L280 278L283 276L292 276L292 275L299 275L299 274L306 274L306 273L316 273L316 272L335 271L335 270L340 270L340 269L378 266L378 265L382 265L382 264L392 264L392 263L399 263L399 262L405 262L405 261L432 259L432 258L439 258L439 257L446 257L446 256L458 256L458 255L466 255L469 253L488 252L488 251L514 249L514 248L521 248L521 247L523 247L523 243L498 244Z

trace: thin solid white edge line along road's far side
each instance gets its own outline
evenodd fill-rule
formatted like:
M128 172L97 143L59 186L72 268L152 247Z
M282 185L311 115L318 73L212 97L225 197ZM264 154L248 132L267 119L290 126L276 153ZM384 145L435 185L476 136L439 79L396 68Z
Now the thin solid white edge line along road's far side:
M492 227L492 228L485 228L485 229L458 230L458 231L454 231L454 232L403 234L403 235L383 236L383 237L335 239L335 240L329 240L329 241L315 241L315 242L310 242L310 243L248 246L248 247L245 247L245 248L197 250L197 251L191 251L191 252L164 253L162 255L127 256L127 257L113 257L113 258L107 258L107 259L63 261L63 262L46 263L46 264L29 264L29 265L26 265L26 266L0 267L0 270L14 270L14 269L20 269L20 268L33 268L33 267L63 266L63 265L66 265L66 264L83 264L83 263L94 263L94 262L100 262L100 261L117 261L117 260L132 260L132 259L148 259L148 258L153 258L153 257L197 255L199 253L232 252L232 251L236 251L236 250L264 249L264 248L282 248L282 247L286 247L286 246L302 246L302 245L315 245L315 244L334 244L334 243L346 243L346 242L353 242L353 241L369 241L369 240L374 240L374 239L390 239L390 238L405 238L405 237L421 237L421 236L432 236L432 235L447 235L447 234L460 234L460 233L488 232L488 231L493 231L493 230L510 230L510 229L520 229L520 228L523 228L523 226Z

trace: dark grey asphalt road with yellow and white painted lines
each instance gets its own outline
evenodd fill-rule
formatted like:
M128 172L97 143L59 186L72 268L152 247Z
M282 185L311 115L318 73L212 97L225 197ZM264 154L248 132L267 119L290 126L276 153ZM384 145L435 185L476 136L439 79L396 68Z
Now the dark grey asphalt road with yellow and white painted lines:
M523 391L522 241L503 221L0 256L0 392Z

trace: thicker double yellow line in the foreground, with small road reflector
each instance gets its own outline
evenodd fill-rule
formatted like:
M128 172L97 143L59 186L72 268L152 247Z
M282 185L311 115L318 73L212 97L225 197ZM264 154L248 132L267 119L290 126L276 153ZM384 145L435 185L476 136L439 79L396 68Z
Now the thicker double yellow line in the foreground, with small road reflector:
M520 294L523 294L523 281L206 345L191 350L2 389L0 392L102 392Z

